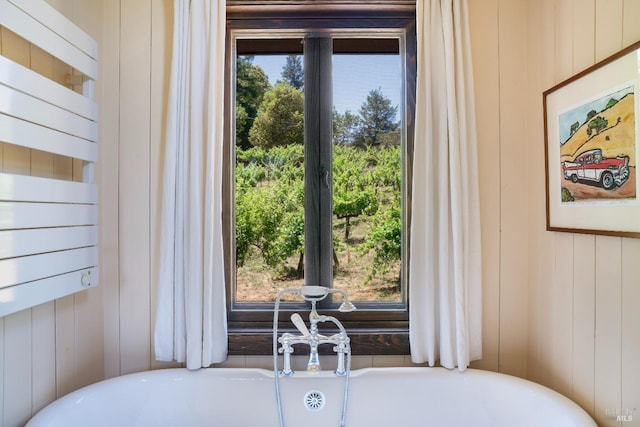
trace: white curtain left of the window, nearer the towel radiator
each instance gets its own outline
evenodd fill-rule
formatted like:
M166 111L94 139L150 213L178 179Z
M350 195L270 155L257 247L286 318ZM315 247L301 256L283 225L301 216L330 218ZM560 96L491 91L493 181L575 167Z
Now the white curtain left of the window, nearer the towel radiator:
M175 0L156 359L227 356L222 246L225 0Z

